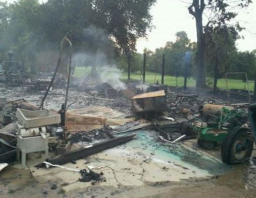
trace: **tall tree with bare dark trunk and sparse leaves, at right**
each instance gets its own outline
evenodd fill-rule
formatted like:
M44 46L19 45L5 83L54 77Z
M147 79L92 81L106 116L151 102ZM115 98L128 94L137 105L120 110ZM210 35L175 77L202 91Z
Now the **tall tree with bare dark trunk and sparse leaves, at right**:
M207 2L206 2L207 1ZM226 24L227 21L234 19L237 16L236 12L230 12L229 7L239 6L247 7L251 0L193 0L188 7L188 12L196 19L197 33L197 80L196 86L202 87L205 85L205 39L203 31L203 12L207 8L214 13L213 18L209 18L208 24L220 26ZM240 30L240 26L236 24L236 31Z

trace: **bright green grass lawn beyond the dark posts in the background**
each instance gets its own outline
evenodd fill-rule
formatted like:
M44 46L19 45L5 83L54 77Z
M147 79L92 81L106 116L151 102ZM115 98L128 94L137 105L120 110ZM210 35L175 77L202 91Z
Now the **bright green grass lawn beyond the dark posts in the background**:
M82 78L83 76L86 76L91 71L91 68L86 67L76 67L75 69L75 76L78 78ZM106 72L108 75L113 74L119 74L120 80L126 80L127 79L127 73L122 73L121 71L118 71L117 69L108 69ZM134 80L142 80L142 76L139 73L131 73L131 78ZM153 73L153 72L146 72L146 82L147 83L155 83L157 80L161 82L161 74L159 73ZM213 78L207 79L209 86L213 86ZM166 75L164 77L164 84L170 85L170 86L176 86L176 78L174 76ZM178 77L177 78L177 84L179 87L184 85L184 78ZM193 78L188 78L187 82L188 87L195 87L196 80ZM247 90L247 83L243 82L242 80L235 80L235 79L228 79L228 86L229 89L240 89L240 90ZM218 80L217 87L220 89L226 89L226 80L224 78ZM249 89L250 91L254 90L254 81L249 81Z

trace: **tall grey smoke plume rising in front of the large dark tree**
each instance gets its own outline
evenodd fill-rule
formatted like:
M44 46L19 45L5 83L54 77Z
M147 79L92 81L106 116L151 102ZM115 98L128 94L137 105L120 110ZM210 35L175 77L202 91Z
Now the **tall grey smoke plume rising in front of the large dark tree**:
M72 58L72 67L85 67L80 85L109 83L116 90L126 89L119 80L121 71L117 69L114 48L111 39L101 28L89 26L84 29L87 49L77 52Z

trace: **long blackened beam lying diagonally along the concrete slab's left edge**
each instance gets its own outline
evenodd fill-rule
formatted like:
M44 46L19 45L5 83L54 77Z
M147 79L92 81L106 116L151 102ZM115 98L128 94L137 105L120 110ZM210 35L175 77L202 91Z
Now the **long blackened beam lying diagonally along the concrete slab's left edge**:
M48 159L46 159L46 161L49 163L52 163L52 164L63 165L65 163L69 163L72 160L78 160L80 158L85 158L85 157L93 155L95 153L104 151L108 148L113 148L120 144L124 144L124 143L132 140L135 137L135 135L136 134L130 134L130 135L121 136L121 137L117 137L114 139L102 141L100 143L92 144L92 145L86 146L84 148L79 148L77 150L70 151L63 155L48 158Z

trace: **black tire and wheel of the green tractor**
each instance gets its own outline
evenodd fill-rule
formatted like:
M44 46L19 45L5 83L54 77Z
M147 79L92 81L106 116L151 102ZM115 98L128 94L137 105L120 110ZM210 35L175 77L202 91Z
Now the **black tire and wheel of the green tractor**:
M226 164L240 164L250 159L254 142L249 138L249 130L236 127L229 132L221 145L221 159Z

